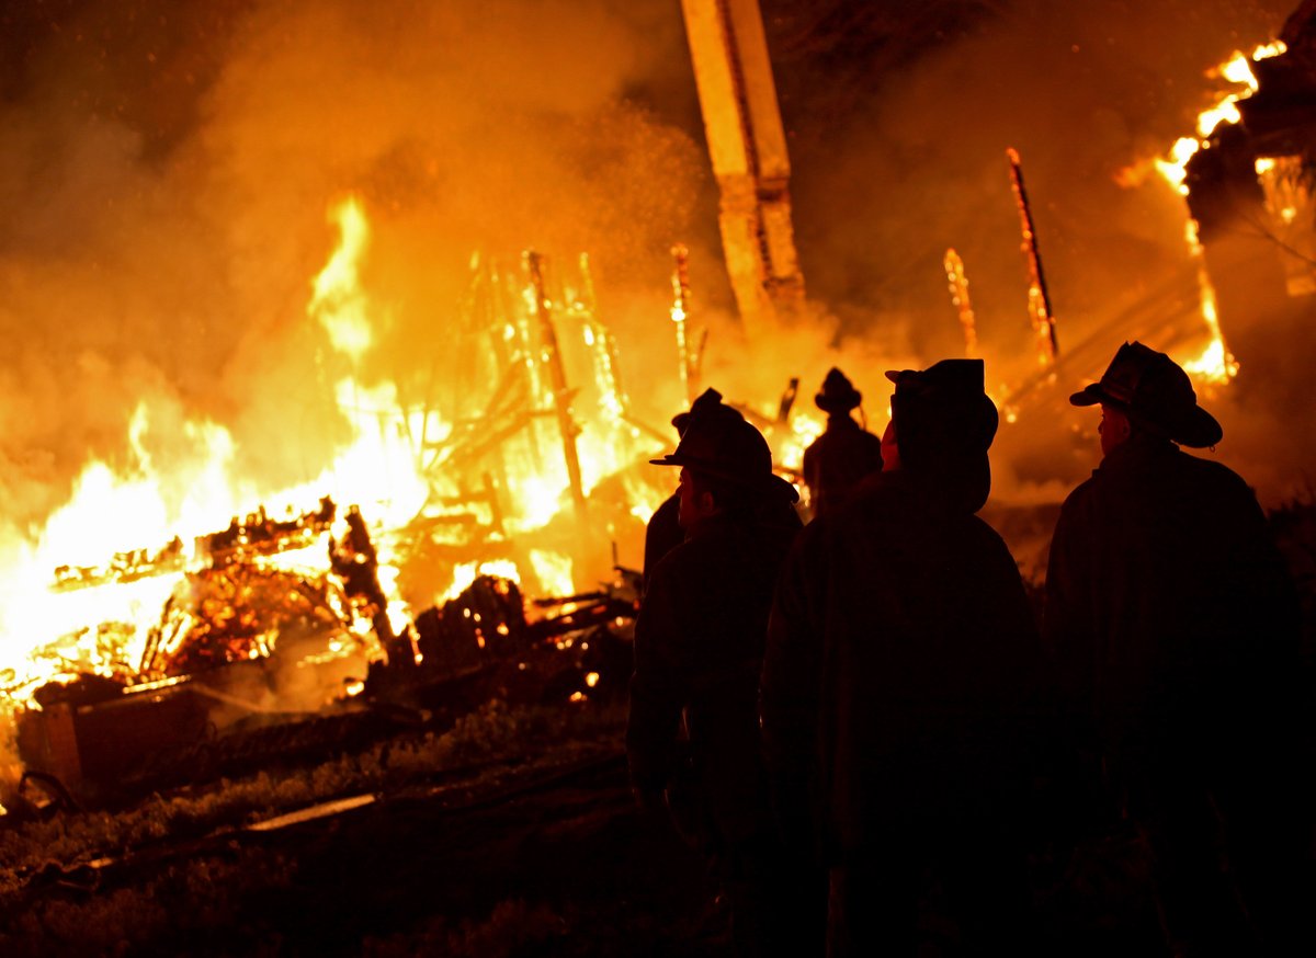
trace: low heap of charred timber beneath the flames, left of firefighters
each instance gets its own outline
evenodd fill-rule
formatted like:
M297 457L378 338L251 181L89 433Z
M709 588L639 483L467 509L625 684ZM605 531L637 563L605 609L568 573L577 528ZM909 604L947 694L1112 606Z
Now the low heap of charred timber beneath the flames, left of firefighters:
M325 529L332 513L326 499L317 513ZM261 567L276 541L301 547L308 524L274 530L258 515L251 525L265 533L242 532L236 520L205 537L220 547L199 549L208 565L187 574L195 608L179 593L170 600L136 675L66 675L17 709L32 797L5 796L11 808L108 808L179 783L304 766L446 728L491 699L563 705L624 693L634 574L619 570L613 586L530 603L517 583L482 575L393 634L355 509L349 534L329 538L330 568L320 576ZM216 583L218 592L207 591ZM384 657L370 651L355 620L374 629ZM326 654L330 646L337 651ZM338 691L299 708L290 704L299 686Z

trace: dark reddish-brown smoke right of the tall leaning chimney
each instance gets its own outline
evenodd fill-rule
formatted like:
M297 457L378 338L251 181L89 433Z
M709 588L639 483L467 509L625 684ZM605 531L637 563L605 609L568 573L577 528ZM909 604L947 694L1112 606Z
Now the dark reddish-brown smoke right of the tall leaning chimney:
M1182 197L1154 172L1134 183L1125 171L1194 134L1198 112L1229 88L1205 72L1274 39L1295 7L765 0L805 278L848 337L834 358L849 363L870 417L890 393L882 368L963 354L942 271L954 247L988 384L999 397L1020 395L1020 420L1003 428L994 453L996 492L1054 501L1086 475L1099 458L1096 417L1074 415L1069 392L1099 376L1126 338L1182 359L1200 350L1205 330ZM1058 317L1065 361L1054 387L1037 375L1007 147L1023 158ZM1245 374L1249 361L1274 366L1265 351L1288 350L1308 358L1287 365L1290 384L1299 383L1311 345L1286 336L1246 337ZM875 343L870 354L882 362L853 358L855 337ZM807 383L824 372L808 370ZM1311 405L1294 395L1203 396L1225 424L1219 458L1270 503L1316 467L1291 438L1292 417Z

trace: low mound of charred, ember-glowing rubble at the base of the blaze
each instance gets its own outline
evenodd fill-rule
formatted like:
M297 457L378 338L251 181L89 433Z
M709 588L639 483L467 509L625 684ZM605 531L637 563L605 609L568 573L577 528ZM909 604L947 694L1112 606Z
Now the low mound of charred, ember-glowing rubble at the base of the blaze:
M182 572L172 554L126 570L175 578L139 661L124 657L130 629L103 624L93 667L57 641L33 657L50 678L11 672L0 690L29 774L93 794L111 776L158 775L170 755L187 767L197 746L222 751L243 730L317 713L475 707L487 695L567 703L625 687L634 580L528 603L515 580L478 575L395 629L365 518L353 507L336 536L336 511L329 497L286 521L261 511L200 537L201 558Z

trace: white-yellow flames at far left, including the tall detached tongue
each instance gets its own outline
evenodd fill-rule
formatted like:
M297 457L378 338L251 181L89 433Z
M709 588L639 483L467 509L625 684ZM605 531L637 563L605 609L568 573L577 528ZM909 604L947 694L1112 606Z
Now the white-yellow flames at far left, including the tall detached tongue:
M371 345L368 297L361 291L358 261L366 249L368 229L359 200L349 197L330 211L342 238L329 263L312 283L308 315L318 321L333 346L354 359ZM316 503L325 490L341 500L361 503L366 515L382 526L415 515L426 490L417 475L415 455L391 429L388 411L396 416L395 388L384 383L372 390L353 380L337 387L343 415L355 428L355 441L320 476L274 492L268 499L286 503ZM116 472L107 463L91 462L74 486L68 503L46 521L34 541L8 557L5 596L0 601L0 687L18 700L63 671L84 671L130 678L141 661L150 628L159 620L166 600L187 568L197 568L204 557L180 547L179 562L164 568L142 567L132 582L87 572L86 588L53 587L51 570L96 570L122 566L125 543L166 543L222 529L242 515L243 503L261 499L250 482L236 475L233 438L224 426L208 420L190 420L182 426L193 454L168 476L176 486L184 479L187 496L170 507L166 486L143 441L154 428L151 407L142 401L128 430L133 453L130 466ZM380 488L380 476L388 476ZM326 536L305 549L268 558L271 565L296 570L326 555ZM396 593L396 568L380 547L380 584L388 596L388 616L395 628L409 621L409 609ZM82 584L78 576L71 576ZM58 638L57 638L58 637ZM30 701L28 703L32 704Z

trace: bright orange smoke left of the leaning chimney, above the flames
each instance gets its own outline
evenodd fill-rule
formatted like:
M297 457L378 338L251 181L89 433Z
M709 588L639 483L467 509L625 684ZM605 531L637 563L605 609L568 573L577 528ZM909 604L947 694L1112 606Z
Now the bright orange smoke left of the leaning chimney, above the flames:
M305 307L338 238L326 209L349 192L371 217L362 280L379 304L358 375L412 395L451 353L472 251L587 250L609 318L638 325L665 320L671 242L699 238L700 146L626 95L662 87L676 11L146 0L4 16L12 532L39 528L91 458L132 468L142 403L155 465L186 459L171 426L204 417L232 432L257 493L317 474L343 434L342 370Z

